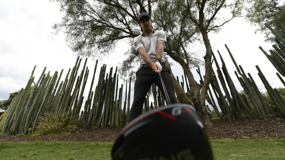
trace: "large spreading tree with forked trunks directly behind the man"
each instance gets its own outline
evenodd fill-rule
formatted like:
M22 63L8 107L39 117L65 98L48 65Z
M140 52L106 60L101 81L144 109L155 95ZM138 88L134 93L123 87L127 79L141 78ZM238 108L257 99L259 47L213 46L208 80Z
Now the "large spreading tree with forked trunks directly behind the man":
M205 97L212 71L212 50L208 32L218 31L220 26L229 21L225 20L221 24L213 25L213 22L218 21L216 14L221 8L232 8L233 17L238 16L241 8L240 1L236 0L236 3L229 5L224 5L225 0L204 0L202 3L191 1L191 4L189 1L173 0L56 1L59 2L61 11L65 15L61 23L54 25L54 29L65 32L67 42L74 52L84 56L99 57L112 52L119 40L124 39L129 42L130 49L126 53L128 58L123 61L120 73L127 73L126 71L132 68L132 64L138 60L139 54L131 45L133 38L142 31L137 16L140 12L148 12L153 15L154 23L156 23L154 29L161 28L167 33L167 45L164 51L182 66L189 79L191 89L185 94L172 74L179 101L193 105L200 114L203 123L208 127L211 126L210 111L205 106ZM190 6L192 7L191 11L187 8ZM204 11L205 15L212 15L204 16ZM206 75L203 85L194 80L190 71L191 67L200 64L199 60L195 59L195 55L189 52L194 41L201 41L200 32L206 46L204 57Z

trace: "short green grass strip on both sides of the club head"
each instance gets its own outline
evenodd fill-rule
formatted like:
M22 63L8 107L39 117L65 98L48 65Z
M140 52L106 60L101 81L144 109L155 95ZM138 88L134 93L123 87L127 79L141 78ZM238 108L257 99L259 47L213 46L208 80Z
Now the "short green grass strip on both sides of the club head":
M216 160L285 159L285 139L210 140ZM0 142L1 159L110 160L112 142Z

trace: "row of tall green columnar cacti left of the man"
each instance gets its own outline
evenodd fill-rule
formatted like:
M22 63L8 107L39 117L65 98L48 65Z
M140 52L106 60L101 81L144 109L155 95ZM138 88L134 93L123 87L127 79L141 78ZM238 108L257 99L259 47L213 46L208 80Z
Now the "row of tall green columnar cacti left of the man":
M66 114L72 120L80 117L84 120L86 128L124 127L129 117L131 80L128 89L128 81L126 81L125 101L122 105L123 84L118 93L117 68L114 74L113 67L106 74L104 64L101 67L95 90L93 90L97 60L88 96L83 102L89 69L86 67L86 58L80 72L81 61L77 57L75 66L72 70L69 69L63 81L61 81L63 70L60 74L55 71L51 76L50 72L45 73L45 67L35 83L34 68L26 87L20 90L18 96L12 100L7 111L1 116L0 132L12 135L33 132L37 127L39 117L44 116L45 112L54 113L57 117Z

